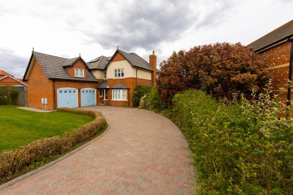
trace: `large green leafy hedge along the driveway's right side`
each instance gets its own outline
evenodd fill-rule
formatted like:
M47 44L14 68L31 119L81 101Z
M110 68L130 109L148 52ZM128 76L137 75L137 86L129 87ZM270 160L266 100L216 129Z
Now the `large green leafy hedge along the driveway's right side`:
M197 165L198 194L290 194L293 118L270 83L248 101L217 101L197 90L176 94L162 113L185 134Z

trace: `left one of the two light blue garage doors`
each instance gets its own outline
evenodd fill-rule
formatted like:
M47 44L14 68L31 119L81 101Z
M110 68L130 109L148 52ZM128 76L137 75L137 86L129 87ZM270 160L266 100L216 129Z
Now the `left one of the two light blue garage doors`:
M77 108L77 89L58 89L58 108Z

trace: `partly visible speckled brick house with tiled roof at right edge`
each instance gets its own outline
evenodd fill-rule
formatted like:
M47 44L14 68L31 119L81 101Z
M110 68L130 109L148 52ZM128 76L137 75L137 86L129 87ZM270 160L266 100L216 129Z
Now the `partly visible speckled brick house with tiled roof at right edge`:
M286 88L287 80L292 80L292 41L293 20L248 44L267 63L267 70L274 75L273 92L278 94L282 101L292 100L293 96L291 87L282 94L279 89L280 87Z

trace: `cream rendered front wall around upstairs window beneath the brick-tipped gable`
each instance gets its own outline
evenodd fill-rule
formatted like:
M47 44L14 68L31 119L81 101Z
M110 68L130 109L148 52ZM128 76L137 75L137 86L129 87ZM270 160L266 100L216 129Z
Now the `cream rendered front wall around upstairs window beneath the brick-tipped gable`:
M127 60L119 60L110 62L107 67L107 79L114 79L114 69L124 68L124 77L132 77L132 67Z

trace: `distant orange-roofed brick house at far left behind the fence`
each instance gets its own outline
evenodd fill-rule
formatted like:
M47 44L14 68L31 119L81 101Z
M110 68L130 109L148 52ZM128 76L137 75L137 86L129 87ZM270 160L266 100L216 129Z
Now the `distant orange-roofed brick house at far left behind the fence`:
M22 79L15 78L13 75L0 70L0 86L9 85L17 88L19 91L28 91L28 84Z

